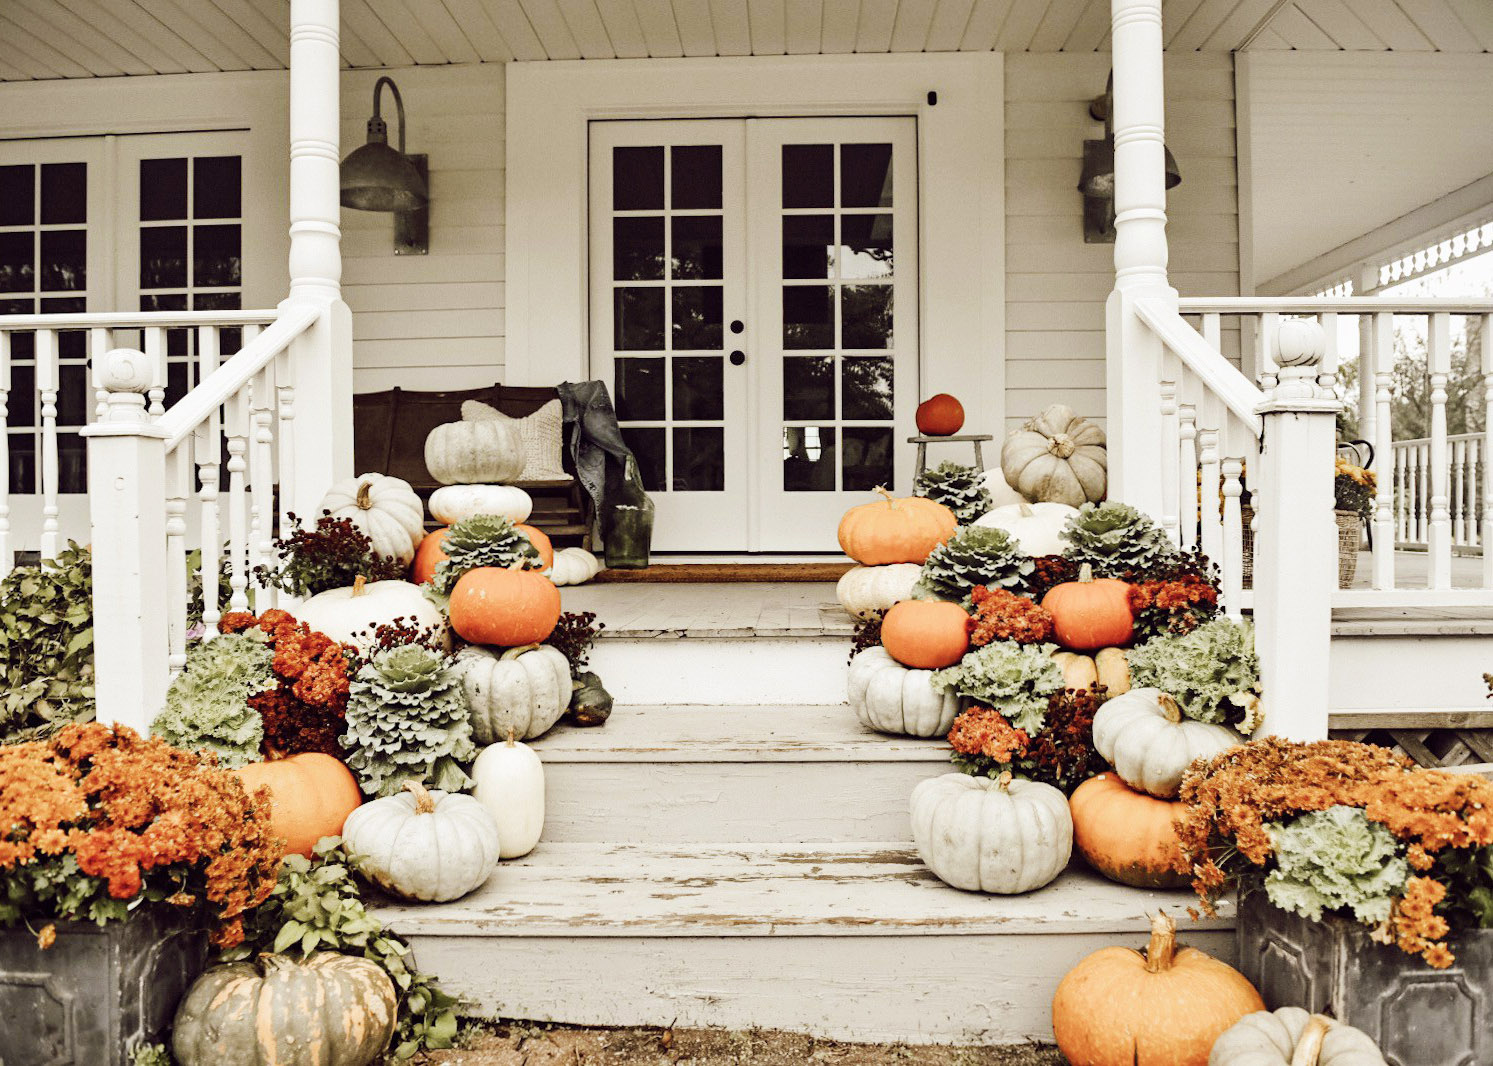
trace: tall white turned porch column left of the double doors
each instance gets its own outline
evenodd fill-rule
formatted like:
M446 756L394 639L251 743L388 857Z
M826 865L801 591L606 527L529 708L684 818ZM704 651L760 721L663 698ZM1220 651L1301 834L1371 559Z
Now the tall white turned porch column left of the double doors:
M314 518L322 493L352 475L352 315L342 302L337 0L290 6L290 297L318 320L291 346L293 482L282 511Z

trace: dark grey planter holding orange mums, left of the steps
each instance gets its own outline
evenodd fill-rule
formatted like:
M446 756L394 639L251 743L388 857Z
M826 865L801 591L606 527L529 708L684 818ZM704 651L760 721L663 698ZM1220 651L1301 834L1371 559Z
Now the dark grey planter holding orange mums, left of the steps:
M0 1063L128 1066L166 1042L176 1003L208 963L208 933L175 908L100 929L58 923L42 951L24 926L0 930Z

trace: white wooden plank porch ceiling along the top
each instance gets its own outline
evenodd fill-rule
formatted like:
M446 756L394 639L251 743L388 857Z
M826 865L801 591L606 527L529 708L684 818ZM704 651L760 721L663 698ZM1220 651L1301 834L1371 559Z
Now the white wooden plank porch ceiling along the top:
M1090 52L1109 0L342 0L349 67ZM1489 0L1166 0L1173 51L1493 51ZM4 0L0 81L284 70L288 0Z

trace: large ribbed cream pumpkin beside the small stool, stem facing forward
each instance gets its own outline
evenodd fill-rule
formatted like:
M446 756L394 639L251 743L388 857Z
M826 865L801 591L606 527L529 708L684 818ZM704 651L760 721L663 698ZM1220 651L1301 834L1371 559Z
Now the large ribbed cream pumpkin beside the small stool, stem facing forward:
M1021 496L1070 508L1105 499L1105 431L1054 403L1000 446L1000 469Z

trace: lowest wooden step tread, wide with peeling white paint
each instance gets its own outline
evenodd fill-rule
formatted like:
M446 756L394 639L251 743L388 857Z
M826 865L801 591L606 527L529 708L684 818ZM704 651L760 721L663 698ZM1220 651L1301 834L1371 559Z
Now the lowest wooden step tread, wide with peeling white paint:
M605 796L597 796L605 803ZM1187 891L1127 888L1081 866L1026 896L950 888L909 844L540 844L466 899L378 908L405 935L512 938L1144 933Z

